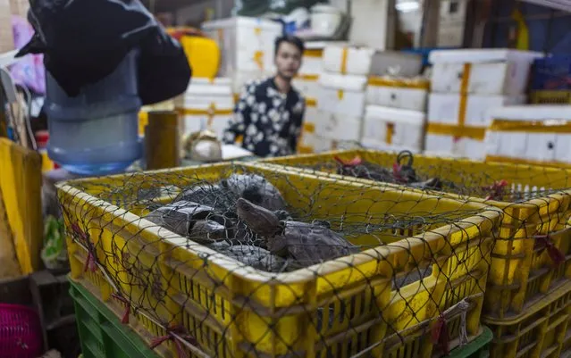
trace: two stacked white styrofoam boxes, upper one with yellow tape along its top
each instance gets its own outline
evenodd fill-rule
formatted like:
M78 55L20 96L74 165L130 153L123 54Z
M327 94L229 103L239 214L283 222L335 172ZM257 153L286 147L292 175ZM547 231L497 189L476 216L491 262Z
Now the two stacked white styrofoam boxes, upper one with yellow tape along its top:
M367 87L363 146L421 152L428 89L428 80L422 78L371 77Z

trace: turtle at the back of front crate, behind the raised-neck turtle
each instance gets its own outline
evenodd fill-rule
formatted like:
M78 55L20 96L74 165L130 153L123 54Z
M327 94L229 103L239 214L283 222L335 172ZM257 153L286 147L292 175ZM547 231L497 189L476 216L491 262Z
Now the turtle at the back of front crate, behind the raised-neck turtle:
M267 179L256 174L231 174L222 179L221 187L231 191L251 203L262 206L273 212L286 210L286 203L280 191Z

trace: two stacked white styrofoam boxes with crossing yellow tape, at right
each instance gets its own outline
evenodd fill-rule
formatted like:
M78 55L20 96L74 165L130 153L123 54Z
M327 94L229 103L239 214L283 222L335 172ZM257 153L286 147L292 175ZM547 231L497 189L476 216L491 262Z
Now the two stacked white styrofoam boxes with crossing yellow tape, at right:
M541 56L506 49L432 51L426 152L483 159L486 111L525 103L531 64Z

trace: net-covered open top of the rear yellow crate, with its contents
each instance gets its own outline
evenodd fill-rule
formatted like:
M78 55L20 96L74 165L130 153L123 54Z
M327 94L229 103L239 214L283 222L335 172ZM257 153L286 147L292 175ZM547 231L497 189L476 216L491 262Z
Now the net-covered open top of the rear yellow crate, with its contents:
M408 151L349 150L266 162L506 204L523 203L571 188L571 170L428 157Z

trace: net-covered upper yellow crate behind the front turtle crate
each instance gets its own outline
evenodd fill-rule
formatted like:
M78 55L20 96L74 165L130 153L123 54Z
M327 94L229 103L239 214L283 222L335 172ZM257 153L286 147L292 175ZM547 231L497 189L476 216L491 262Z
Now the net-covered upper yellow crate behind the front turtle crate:
M370 150L267 162L330 178L422 189L502 209L484 303L486 317L515 318L542 299L548 288L571 279L569 169Z

